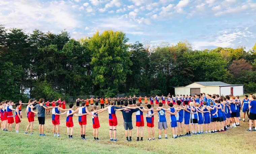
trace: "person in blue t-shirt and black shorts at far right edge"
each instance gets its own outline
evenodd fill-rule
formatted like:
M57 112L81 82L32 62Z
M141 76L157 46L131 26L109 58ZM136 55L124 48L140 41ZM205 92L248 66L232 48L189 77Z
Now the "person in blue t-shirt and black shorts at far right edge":
M249 109L250 109L250 115L249 115L249 129L247 131L251 132L252 131L252 122L253 125L256 125L256 96L252 96L252 100L249 104ZM256 131L255 127L254 130Z

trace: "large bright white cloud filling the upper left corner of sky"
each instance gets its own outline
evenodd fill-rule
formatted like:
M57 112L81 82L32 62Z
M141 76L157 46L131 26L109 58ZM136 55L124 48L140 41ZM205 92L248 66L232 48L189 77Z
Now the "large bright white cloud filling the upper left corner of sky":
M50 1L36 2L13 1L8 5L1 5L0 10L8 10L0 13L1 23L6 27L19 27L26 31L32 31L35 28L42 31L58 32L66 28L67 30L77 28L80 24L76 19L76 13L70 7L72 2Z

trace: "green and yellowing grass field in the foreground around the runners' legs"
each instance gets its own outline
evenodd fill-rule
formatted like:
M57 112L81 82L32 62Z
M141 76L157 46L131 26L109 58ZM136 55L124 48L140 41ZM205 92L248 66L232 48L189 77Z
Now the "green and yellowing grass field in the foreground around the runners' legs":
M25 108L23 109L25 111ZM53 137L52 133L52 115L46 115L45 134L46 137L39 136L38 120L35 117L34 135L25 135L24 131L28 124L25 112L23 113L20 133L0 131L0 151L1 153L256 153L256 132L247 132L248 123L242 122L241 126L229 129L225 133L193 135L191 137L182 137L172 139L170 128L170 119L167 116L168 139L156 139L147 141L147 126L144 127L144 141L136 141L136 128L132 131L132 142L125 142L123 116L117 111L118 142L109 141L108 112L99 114L100 141L94 141L92 135L92 119L87 116L86 138L80 139L79 124L77 116L74 121L74 139L69 139L66 133L66 115L61 115L60 133L61 137ZM242 113L241 113L242 116ZM146 124L146 117L144 114ZM247 120L246 116L246 120ZM155 138L158 137L157 115L155 117ZM135 127L135 114L133 114L133 126ZM184 132L185 133L185 132ZM164 134L162 134L164 136Z

